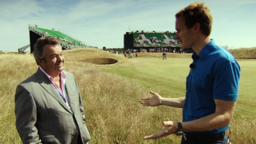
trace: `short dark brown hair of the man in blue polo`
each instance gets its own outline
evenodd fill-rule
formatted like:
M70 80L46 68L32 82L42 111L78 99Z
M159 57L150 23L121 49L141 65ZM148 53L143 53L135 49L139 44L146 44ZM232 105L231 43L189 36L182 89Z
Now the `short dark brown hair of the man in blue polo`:
M192 28L198 22L203 35L209 36L211 34L212 14L211 10L204 3L195 1L189 4L189 6L183 8L175 15L176 19L181 16L184 17L185 25L188 26L188 29Z

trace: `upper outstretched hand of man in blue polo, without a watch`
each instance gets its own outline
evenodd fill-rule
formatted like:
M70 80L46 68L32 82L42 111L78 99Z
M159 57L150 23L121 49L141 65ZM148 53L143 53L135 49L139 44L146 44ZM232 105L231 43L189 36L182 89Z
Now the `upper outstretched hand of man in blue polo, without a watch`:
M143 106L159 106L161 105L161 97L158 93L149 91L152 94L152 97L145 97L142 98L140 103L143 104Z

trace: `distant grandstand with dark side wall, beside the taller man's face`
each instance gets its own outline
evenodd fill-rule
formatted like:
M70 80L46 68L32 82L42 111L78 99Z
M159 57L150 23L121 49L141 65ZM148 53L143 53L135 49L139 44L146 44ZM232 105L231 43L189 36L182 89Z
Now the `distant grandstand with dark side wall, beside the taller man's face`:
M180 50L179 40L175 40L175 34L169 31L165 32L144 32L132 31L126 32L124 35L124 51L127 49L156 49L165 48L173 51ZM193 52L191 48L186 49L186 52Z

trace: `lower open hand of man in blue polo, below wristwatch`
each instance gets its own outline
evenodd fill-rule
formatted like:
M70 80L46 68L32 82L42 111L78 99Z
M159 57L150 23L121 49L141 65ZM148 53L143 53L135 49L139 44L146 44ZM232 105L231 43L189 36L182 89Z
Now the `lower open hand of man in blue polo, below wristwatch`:
M164 129L151 136L145 136L143 140L161 138L163 136L168 136L169 134L173 134L174 132L178 131L178 124L176 122L163 122L163 125L165 126Z

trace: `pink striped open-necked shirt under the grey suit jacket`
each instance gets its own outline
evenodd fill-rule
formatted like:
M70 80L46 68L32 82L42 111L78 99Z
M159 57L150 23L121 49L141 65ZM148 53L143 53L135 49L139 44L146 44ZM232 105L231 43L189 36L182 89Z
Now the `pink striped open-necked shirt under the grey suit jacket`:
M60 86L58 86L58 84L56 84L53 81L53 78L51 76L49 76L49 74L47 74L42 67L39 67L39 68L45 74L45 76L47 76L49 78L49 80L54 85L56 90L58 90L58 92L61 94L61 97L63 97L65 100L67 100L67 102L65 102L65 103L67 104L68 108L70 108L68 94L67 94L67 91L65 90L65 84L66 84L66 77L67 77L67 75L64 72L64 70L62 70L60 72L60 79L61 79L61 83L60 84L61 84L61 88L62 88L61 89Z

